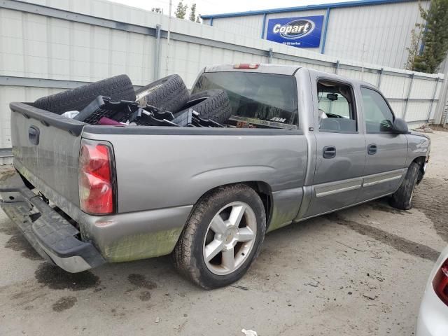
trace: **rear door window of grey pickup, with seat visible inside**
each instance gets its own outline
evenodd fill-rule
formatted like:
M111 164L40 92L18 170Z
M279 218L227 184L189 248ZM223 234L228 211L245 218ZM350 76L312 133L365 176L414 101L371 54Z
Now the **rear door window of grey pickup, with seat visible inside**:
M317 94L320 132L358 131L353 90L349 85L319 80Z

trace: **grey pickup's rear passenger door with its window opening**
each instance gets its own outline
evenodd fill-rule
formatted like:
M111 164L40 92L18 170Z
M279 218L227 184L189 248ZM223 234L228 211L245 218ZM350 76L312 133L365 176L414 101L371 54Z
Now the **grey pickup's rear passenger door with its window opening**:
M356 88L340 78L312 78L316 170L304 217L349 206L363 182L365 136Z

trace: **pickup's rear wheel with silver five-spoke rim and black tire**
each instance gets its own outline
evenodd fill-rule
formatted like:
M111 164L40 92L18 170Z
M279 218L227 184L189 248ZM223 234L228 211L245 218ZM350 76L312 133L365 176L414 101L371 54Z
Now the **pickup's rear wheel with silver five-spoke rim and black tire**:
M257 258L265 230L265 208L252 188L217 188L193 209L174 248L174 265L202 288L228 286Z

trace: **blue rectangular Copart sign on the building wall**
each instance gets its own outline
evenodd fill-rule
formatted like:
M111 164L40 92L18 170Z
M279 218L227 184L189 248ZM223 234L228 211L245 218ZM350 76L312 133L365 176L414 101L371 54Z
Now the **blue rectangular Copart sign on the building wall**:
M269 19L266 39L297 48L318 48L322 25L323 15Z

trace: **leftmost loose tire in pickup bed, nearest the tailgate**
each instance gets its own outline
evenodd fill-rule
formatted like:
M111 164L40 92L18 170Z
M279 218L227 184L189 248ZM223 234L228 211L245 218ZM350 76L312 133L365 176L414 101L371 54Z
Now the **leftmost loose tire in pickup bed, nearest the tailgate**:
M39 98L32 105L38 109L62 114L66 111L81 111L98 96L110 97L113 101L134 102L134 86L127 75L119 75Z

